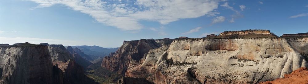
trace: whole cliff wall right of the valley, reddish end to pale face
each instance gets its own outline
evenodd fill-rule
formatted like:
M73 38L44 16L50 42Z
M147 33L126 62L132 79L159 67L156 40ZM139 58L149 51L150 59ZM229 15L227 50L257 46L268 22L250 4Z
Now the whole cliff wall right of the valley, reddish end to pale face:
M308 67L307 38L125 41L102 67L153 83L259 83ZM140 45L165 43L139 53ZM138 48L138 50L134 50ZM120 53L122 52L122 53ZM133 52L133 53L132 53ZM132 54L139 54L138 59ZM125 59L119 59L125 58ZM124 65L120 65L123 63ZM124 69L124 67L127 67Z

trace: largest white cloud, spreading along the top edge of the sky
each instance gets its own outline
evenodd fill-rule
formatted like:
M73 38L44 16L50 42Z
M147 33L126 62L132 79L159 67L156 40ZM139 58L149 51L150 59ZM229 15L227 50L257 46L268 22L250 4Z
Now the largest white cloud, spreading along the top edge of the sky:
M121 30L139 30L141 20L157 21L168 24L184 18L197 18L213 15L220 0L30 0L39 4L35 8L63 4L72 10L89 14L97 22L114 26ZM122 3L123 2L123 3ZM124 3L126 2L126 3Z

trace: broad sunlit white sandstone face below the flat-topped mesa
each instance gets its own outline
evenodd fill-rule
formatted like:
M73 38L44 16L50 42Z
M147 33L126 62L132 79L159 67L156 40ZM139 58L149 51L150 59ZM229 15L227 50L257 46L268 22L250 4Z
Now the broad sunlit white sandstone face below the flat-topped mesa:
M197 63L195 74L202 83L257 83L308 67L305 58L281 38L174 40L168 59Z

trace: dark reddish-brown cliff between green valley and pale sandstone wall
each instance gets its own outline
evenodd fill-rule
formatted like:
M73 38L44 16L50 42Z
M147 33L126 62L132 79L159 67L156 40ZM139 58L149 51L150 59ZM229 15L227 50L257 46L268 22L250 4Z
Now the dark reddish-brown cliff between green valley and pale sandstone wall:
M111 71L119 71L120 74L125 74L130 59L140 61L148 53L150 49L158 48L161 44L155 40L136 40L124 41L123 45L113 54L103 59L102 67Z

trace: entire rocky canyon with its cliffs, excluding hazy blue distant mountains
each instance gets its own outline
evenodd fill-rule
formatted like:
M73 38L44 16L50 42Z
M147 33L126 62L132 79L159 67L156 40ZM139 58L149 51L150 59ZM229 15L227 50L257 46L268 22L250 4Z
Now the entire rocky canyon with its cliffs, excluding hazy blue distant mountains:
M243 30L124 41L95 63L83 52L90 48L0 44L0 84L308 83L301 81L308 78L308 35L287 35Z

